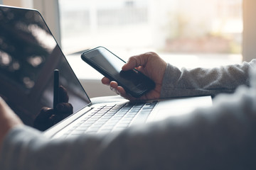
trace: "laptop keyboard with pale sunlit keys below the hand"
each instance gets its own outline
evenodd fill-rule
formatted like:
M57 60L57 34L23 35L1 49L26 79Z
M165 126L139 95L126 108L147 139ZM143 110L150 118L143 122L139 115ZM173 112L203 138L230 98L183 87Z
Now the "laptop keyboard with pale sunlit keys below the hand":
M131 124L144 123L157 101L151 103L120 103L100 106L75 123L63 137L82 133L112 132L123 130Z

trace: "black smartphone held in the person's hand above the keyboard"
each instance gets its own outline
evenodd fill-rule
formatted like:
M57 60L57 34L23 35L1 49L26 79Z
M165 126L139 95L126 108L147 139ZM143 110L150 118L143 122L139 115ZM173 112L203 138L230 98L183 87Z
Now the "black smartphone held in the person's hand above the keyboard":
M114 55L105 47L96 47L83 52L82 60L90 64L91 67L103 74L111 81L117 81L127 94L139 98L148 93L156 86L154 81L146 77L137 69L123 71L124 60Z

